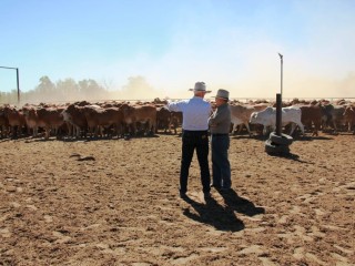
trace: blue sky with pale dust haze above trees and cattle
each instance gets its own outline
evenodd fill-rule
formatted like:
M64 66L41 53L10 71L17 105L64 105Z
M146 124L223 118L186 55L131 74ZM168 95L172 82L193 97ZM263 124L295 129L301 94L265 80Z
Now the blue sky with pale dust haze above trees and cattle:
M0 65L19 68L22 91L42 75L111 90L143 75L156 96L185 98L205 81L267 98L280 91L281 52L285 96L349 98L354 13L353 0L1 0ZM0 69L0 91L12 89L16 71Z

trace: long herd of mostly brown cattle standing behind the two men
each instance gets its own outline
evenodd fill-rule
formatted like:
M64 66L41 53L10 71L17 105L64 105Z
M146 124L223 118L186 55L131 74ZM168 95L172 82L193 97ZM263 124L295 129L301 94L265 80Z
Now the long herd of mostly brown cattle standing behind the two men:
M1 137L38 136L44 134L48 140L57 137L98 137L128 135L151 135L166 133L181 126L182 113L170 112L166 102L155 99L152 102L103 102L85 101L71 104L24 104L21 109L4 104L0 106ZM213 105L213 103L212 103ZM267 101L230 102L231 131L242 133L246 129L266 134L274 131L276 120L275 103ZM355 103L342 100L298 101L283 103L282 123L291 125L290 134L295 129L303 135L312 136L318 131L352 131L355 125ZM232 127L233 126L233 127ZM244 127L245 126L245 127ZM261 127L263 126L263 127ZM287 132L288 133L288 132ZM353 131L355 134L355 130Z

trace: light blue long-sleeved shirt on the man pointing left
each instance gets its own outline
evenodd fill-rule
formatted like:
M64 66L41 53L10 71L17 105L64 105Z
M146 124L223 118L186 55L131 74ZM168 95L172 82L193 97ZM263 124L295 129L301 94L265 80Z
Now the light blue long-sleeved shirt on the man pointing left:
M194 96L190 100L168 103L168 109L182 112L182 129L187 131L209 130L209 117L211 115L211 103L202 98Z

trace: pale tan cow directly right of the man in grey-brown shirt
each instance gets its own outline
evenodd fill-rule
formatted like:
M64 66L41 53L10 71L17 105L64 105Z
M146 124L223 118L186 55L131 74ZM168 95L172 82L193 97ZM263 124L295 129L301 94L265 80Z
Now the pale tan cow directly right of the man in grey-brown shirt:
M242 131L243 125L245 125L248 135L252 135L251 130L248 127L248 121L251 119L251 115L253 112L264 110L267 105L244 105L244 104L236 104L236 105L230 105L231 110L231 123L233 124L234 132L236 130L237 125L241 125L239 133Z

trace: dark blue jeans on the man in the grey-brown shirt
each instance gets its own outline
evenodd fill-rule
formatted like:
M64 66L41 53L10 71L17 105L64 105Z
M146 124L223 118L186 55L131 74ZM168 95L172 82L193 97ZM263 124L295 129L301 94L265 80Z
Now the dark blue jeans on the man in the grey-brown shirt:
M212 134L212 175L213 185L230 188L231 165L229 161L230 136L229 134Z

